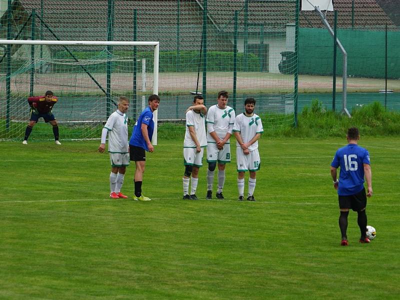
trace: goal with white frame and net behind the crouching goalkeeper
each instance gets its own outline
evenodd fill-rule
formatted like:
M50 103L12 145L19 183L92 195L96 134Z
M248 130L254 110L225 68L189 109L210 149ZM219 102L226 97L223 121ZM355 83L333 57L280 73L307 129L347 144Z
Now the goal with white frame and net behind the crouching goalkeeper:
M0 40L0 139L23 138L27 97L46 90L58 98L52 112L61 140L99 138L120 95L129 98L134 121L148 95L158 94L158 53L156 41ZM42 118L34 139L53 139Z

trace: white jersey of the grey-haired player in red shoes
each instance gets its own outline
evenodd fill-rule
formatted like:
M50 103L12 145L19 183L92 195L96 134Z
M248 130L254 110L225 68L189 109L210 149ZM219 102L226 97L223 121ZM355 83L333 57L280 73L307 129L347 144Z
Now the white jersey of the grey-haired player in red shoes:
M108 130L108 152L128 153L128 119L126 114L119 110L108 117L104 128Z

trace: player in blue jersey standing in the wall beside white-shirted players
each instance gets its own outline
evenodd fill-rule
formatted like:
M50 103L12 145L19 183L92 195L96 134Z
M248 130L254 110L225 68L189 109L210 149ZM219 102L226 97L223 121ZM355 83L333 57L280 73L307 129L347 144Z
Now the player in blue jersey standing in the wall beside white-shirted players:
M136 165L134 173L134 200L149 201L141 193L141 183L143 181L143 172L146 164L146 152L153 152L154 147L151 144L151 138L154 132L153 111L158 108L159 96L152 94L148 97L148 106L140 113L134 124L132 136L129 140L130 160Z

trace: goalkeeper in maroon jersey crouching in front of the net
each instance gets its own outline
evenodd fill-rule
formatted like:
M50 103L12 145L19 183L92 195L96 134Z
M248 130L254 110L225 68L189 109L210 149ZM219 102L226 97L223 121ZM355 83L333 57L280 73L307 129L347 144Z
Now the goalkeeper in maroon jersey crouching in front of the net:
M27 100L30 106L30 118L22 143L28 143L27 140L33 126L42 117L46 123L49 122L53 126L55 144L60 145L61 143L58 140L58 123L51 111L58 100L57 97L54 96L51 90L47 90L44 96L28 97Z

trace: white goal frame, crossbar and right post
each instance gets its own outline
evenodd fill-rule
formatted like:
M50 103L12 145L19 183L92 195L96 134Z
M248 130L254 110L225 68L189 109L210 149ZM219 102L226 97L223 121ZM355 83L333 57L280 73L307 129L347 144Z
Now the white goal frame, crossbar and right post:
M104 46L154 46L153 94L158 94L159 41L119 41L119 40L31 40L0 39L0 44L21 45L104 45ZM151 143L157 144L157 110L154 115L154 133Z

